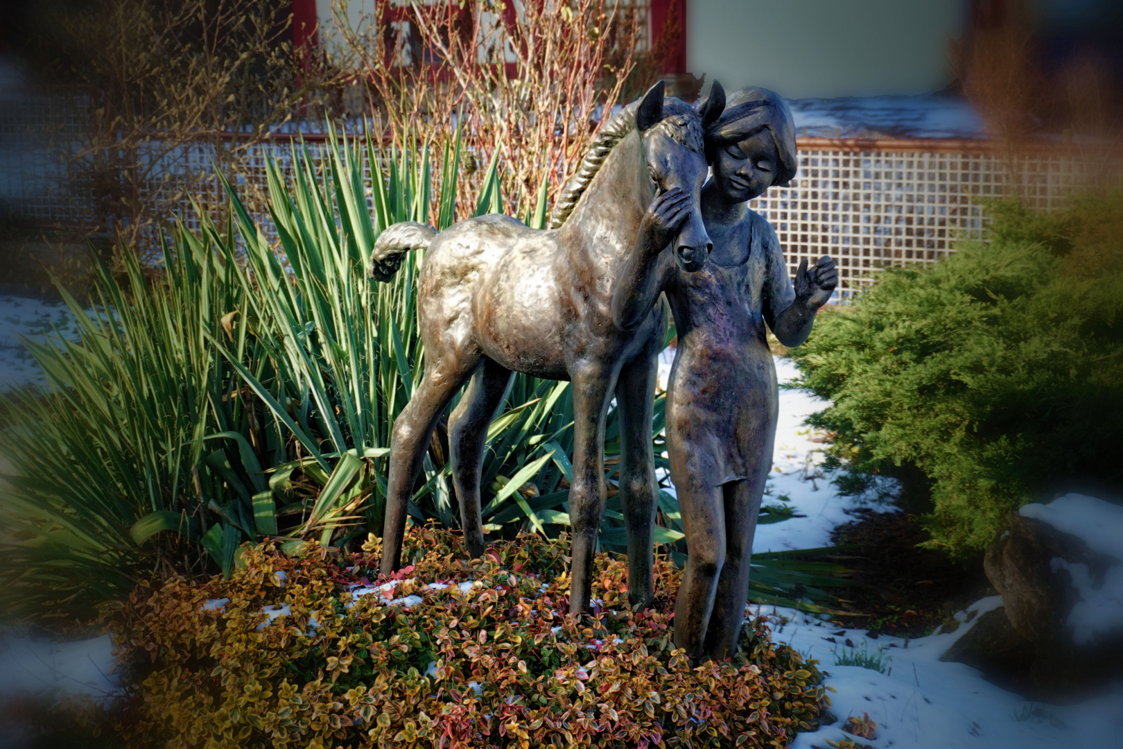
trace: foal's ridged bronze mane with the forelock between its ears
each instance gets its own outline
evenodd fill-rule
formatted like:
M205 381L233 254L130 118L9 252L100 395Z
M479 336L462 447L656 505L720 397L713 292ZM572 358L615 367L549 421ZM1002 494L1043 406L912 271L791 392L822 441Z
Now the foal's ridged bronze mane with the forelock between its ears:
M676 141L687 146L691 150L702 150L702 125L694 111L694 108L677 99L667 99L664 102L666 117L656 127L667 128L670 137ZM554 204L550 213L548 228L557 229L573 210L577 207L577 201L585 194L588 185L593 183L593 177L601 171L604 161L615 148L617 144L624 139L629 133L636 129L636 107L628 106L620 110L609 122L601 128L601 131L593 138L593 145L588 153L581 161L577 172L569 177Z

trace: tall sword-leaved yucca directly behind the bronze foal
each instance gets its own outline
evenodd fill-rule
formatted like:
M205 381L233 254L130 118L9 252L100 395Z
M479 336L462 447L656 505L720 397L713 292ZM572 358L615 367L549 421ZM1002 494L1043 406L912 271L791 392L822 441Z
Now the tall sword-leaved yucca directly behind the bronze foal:
M454 139L446 146L441 164L438 229L454 219L457 144ZM368 529L381 530L390 431L421 376L422 344L413 292L423 253L411 254L389 284L366 278L366 258L375 238L391 223L428 222L428 150L401 150L387 159L387 179L375 181L369 210L363 198L364 155L377 168L378 154L369 143L363 149L346 139L343 144L332 140L323 179L318 179L310 154L295 149L298 168L290 184L275 165L270 166L272 217L291 271L282 268L237 195L230 193L246 255L247 284L265 278L271 289L284 290L256 296L248 285L246 290L244 319L250 321L249 336L263 347L268 360L264 371L274 380L265 382L220 342L219 347L300 453L272 464L277 511L290 511L294 503L285 500L296 488L300 508L307 510L304 529L320 528L325 545L346 544ZM501 211L500 194L493 159L474 213ZM533 213L526 218L531 226L545 225L545 185ZM545 531L549 524L568 524L567 456L573 447L568 383L520 375L504 403L504 412L489 430L483 467L483 485L492 490L484 508L489 529L513 535L520 529ZM449 408L454 407L455 402ZM611 465L613 450L619 453L614 414L610 414L606 447ZM410 505L416 521L457 523L448 473L442 456L430 451ZM310 479L310 484L300 491L294 477ZM246 487L243 494L253 488ZM622 527L614 522L619 518L619 512L610 510L603 541L622 549ZM664 540L677 538L682 535L673 530L663 536Z

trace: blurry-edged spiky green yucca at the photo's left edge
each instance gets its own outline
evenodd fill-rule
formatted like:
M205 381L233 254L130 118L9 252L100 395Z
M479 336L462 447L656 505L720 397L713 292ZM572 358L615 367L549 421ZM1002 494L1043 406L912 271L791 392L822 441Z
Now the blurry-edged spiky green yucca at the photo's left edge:
M165 247L166 275L155 283L129 255L122 277L95 257L94 313L60 287L77 340L22 341L48 386L16 391L0 405L0 449L15 467L0 502L9 613L89 611L126 593L149 556L137 548L135 524L150 513L174 515L184 535L201 537L203 451L222 392L207 332L240 287L193 237L183 232L180 243L186 252Z

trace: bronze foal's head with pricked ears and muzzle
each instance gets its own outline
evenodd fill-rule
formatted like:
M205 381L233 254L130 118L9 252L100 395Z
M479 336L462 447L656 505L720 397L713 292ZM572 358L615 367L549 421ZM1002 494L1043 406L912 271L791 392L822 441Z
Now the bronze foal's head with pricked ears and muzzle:
M648 90L636 110L636 128L643 143L647 173L655 192L678 188L691 197L690 216L672 240L675 262L687 273L701 270L713 249L701 210L702 184L706 177L702 130L716 120L725 107L721 86L714 83L713 89L716 95L711 94L701 111L695 111L678 99L664 99L664 83L659 81Z

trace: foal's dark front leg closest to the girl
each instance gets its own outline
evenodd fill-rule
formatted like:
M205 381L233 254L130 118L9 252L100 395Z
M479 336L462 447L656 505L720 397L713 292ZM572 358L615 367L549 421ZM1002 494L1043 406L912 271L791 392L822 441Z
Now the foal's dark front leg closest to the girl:
M658 347L651 346L620 371L620 504L628 529L628 602L648 608L655 601L655 457L651 408L658 373Z

